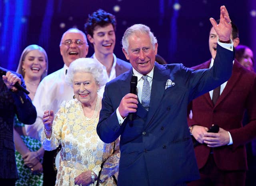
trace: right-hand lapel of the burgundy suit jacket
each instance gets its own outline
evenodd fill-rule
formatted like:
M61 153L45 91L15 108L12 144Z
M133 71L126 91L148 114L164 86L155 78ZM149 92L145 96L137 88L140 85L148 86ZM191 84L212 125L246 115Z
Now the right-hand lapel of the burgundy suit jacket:
M222 100L230 93L230 91L233 89L233 87L236 85L236 82L239 80L239 77L241 76L241 70L240 66L238 66L238 62L235 60L234 65L233 65L233 70L232 70L232 75L230 79L228 80L222 94L220 94L220 97L218 98L215 106L220 104Z

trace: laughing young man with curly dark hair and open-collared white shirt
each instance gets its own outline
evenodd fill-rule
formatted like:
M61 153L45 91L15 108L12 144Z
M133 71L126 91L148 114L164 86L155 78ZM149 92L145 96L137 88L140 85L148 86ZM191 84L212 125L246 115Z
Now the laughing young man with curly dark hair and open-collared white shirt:
M88 16L84 25L89 42L94 48L92 58L106 67L108 81L128 71L132 66L130 63L117 58L114 54L116 44L116 18L102 9ZM100 93L103 94L101 88Z

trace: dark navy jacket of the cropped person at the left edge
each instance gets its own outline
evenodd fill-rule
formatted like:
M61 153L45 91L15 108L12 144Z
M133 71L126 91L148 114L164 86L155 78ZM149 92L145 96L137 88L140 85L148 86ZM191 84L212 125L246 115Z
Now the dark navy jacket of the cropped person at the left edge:
M0 67L0 70L8 71ZM20 74L16 74L24 80ZM36 121L36 108L28 95L21 90L10 91L0 76L0 179L18 179L13 141L13 121L17 115L20 122L33 124Z

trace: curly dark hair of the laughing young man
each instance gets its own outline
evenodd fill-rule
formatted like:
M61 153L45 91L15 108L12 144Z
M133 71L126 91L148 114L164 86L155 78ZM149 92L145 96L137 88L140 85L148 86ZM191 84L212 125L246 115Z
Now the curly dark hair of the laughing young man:
M93 31L96 26L104 27L112 24L114 31L116 31L116 17L105 10L98 9L96 12L88 15L87 22L84 24L86 35L93 37Z

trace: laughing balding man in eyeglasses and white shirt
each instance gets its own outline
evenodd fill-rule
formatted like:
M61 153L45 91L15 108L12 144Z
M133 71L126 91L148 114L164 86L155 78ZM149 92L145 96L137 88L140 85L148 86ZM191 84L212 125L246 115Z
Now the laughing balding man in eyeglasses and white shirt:
M26 126L27 134L38 140L40 140L40 134L44 129L42 121L44 110L53 110L54 113L57 113L64 100L74 98L73 88L66 84L64 79L70 64L78 58L85 58L88 54L88 42L84 32L77 28L67 30L60 41L60 54L63 58L64 67L46 76L40 82L33 100L37 111L36 122L32 126ZM56 150L44 152L44 186L55 185L54 157L56 154Z

